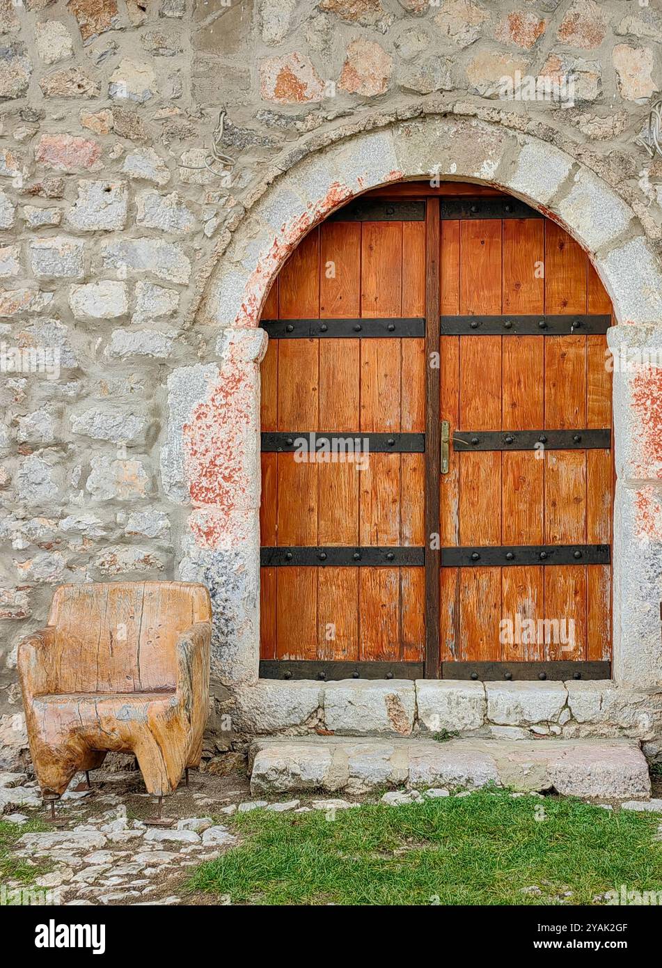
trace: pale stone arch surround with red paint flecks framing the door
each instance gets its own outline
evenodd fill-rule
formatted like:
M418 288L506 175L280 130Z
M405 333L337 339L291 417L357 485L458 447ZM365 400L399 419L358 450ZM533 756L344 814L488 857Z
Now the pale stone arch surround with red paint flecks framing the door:
M262 302L300 239L348 198L435 174L494 185L566 227L613 301L611 346L655 350L662 275L643 230L610 187L551 145L483 122L432 117L352 136L292 166L253 205L209 280L198 314L209 327L209 361L168 380L165 492L189 505L180 574L212 590L214 670L237 693L256 683L258 668ZM648 693L662 682L659 373L654 367L618 371L614 391L613 678ZM249 691L255 700L256 690Z

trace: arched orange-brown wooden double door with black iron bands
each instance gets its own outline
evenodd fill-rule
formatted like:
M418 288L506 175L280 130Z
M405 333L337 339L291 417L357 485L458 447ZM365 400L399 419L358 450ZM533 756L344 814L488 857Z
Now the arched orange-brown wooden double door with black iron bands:
M262 314L262 676L609 676L610 315L476 186L304 239Z

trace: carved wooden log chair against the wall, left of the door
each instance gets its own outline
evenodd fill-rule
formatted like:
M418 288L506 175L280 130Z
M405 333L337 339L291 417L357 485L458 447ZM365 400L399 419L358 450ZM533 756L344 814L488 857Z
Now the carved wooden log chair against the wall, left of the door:
M106 751L133 752L161 815L163 796L200 762L210 639L203 585L58 588L45 629L18 647L30 752L44 799L61 797L75 772L101 766Z

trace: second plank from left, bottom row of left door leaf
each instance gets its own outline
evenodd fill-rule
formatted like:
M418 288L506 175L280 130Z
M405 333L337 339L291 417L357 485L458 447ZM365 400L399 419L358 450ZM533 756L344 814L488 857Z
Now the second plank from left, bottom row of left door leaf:
M276 658L317 655L318 568L279 568L276 590Z

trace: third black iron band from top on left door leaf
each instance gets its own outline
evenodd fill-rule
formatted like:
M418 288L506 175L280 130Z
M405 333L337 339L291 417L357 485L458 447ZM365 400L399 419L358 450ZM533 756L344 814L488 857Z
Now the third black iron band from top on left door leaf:
M359 431L307 431L282 433L264 432L262 450L288 453L330 452L332 454L422 454L425 434L361 434Z

